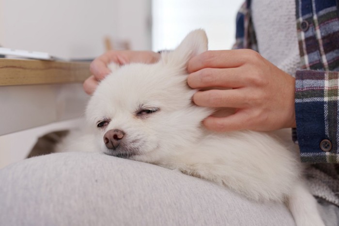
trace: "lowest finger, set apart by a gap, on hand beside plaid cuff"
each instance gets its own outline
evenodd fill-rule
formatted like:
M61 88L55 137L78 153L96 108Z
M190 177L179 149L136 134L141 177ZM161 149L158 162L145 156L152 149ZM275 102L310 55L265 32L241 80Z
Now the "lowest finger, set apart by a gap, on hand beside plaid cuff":
M235 114L224 118L209 116L202 123L208 130L216 132L229 132L249 129L248 121L248 115L245 113L245 111L238 111Z

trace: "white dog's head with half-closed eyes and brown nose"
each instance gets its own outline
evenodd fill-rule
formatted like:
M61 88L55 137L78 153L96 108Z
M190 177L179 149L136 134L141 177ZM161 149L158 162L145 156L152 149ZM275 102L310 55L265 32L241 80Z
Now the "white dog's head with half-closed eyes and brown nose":
M145 162L191 145L212 110L192 103L187 62L207 50L203 30L189 33L154 64L124 65L108 75L90 100L86 116L100 150Z

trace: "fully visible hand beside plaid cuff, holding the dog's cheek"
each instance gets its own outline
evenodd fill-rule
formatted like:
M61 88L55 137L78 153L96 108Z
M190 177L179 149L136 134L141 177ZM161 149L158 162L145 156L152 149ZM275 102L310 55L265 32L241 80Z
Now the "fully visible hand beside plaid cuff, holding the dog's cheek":
M295 127L295 79L259 53L249 49L206 51L188 62L187 83L200 90L196 105L232 107L226 117L209 116L205 127L217 132L232 130L272 131Z

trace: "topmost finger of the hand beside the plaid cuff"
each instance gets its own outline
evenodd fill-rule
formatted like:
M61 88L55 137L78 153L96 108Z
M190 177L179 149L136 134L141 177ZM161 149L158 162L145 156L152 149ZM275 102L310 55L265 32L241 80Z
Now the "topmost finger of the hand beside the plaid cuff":
M245 64L255 53L249 49L214 50L203 52L191 60L187 65L189 73L202 68L231 68Z

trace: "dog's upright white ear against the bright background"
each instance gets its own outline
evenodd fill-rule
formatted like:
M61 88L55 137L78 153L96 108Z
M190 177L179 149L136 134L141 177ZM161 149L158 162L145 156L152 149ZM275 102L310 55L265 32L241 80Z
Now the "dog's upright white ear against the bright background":
M207 35L204 30L191 31L181 44L171 52L162 54L162 59L166 64L186 68L188 61L207 51Z

